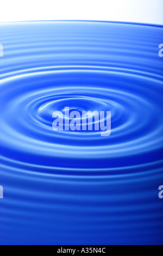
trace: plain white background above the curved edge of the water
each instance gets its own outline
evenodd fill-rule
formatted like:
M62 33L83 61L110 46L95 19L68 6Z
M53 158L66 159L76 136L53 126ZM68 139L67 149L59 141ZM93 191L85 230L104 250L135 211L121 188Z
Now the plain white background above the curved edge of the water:
M163 25L163 0L1 0L0 22L101 20Z

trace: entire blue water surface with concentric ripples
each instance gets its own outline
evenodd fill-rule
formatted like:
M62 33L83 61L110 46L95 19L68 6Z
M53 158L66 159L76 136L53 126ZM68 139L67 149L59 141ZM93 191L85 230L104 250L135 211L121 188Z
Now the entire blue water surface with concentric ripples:
M1 244L163 244L163 27L2 23ZM111 135L53 131L69 106Z

